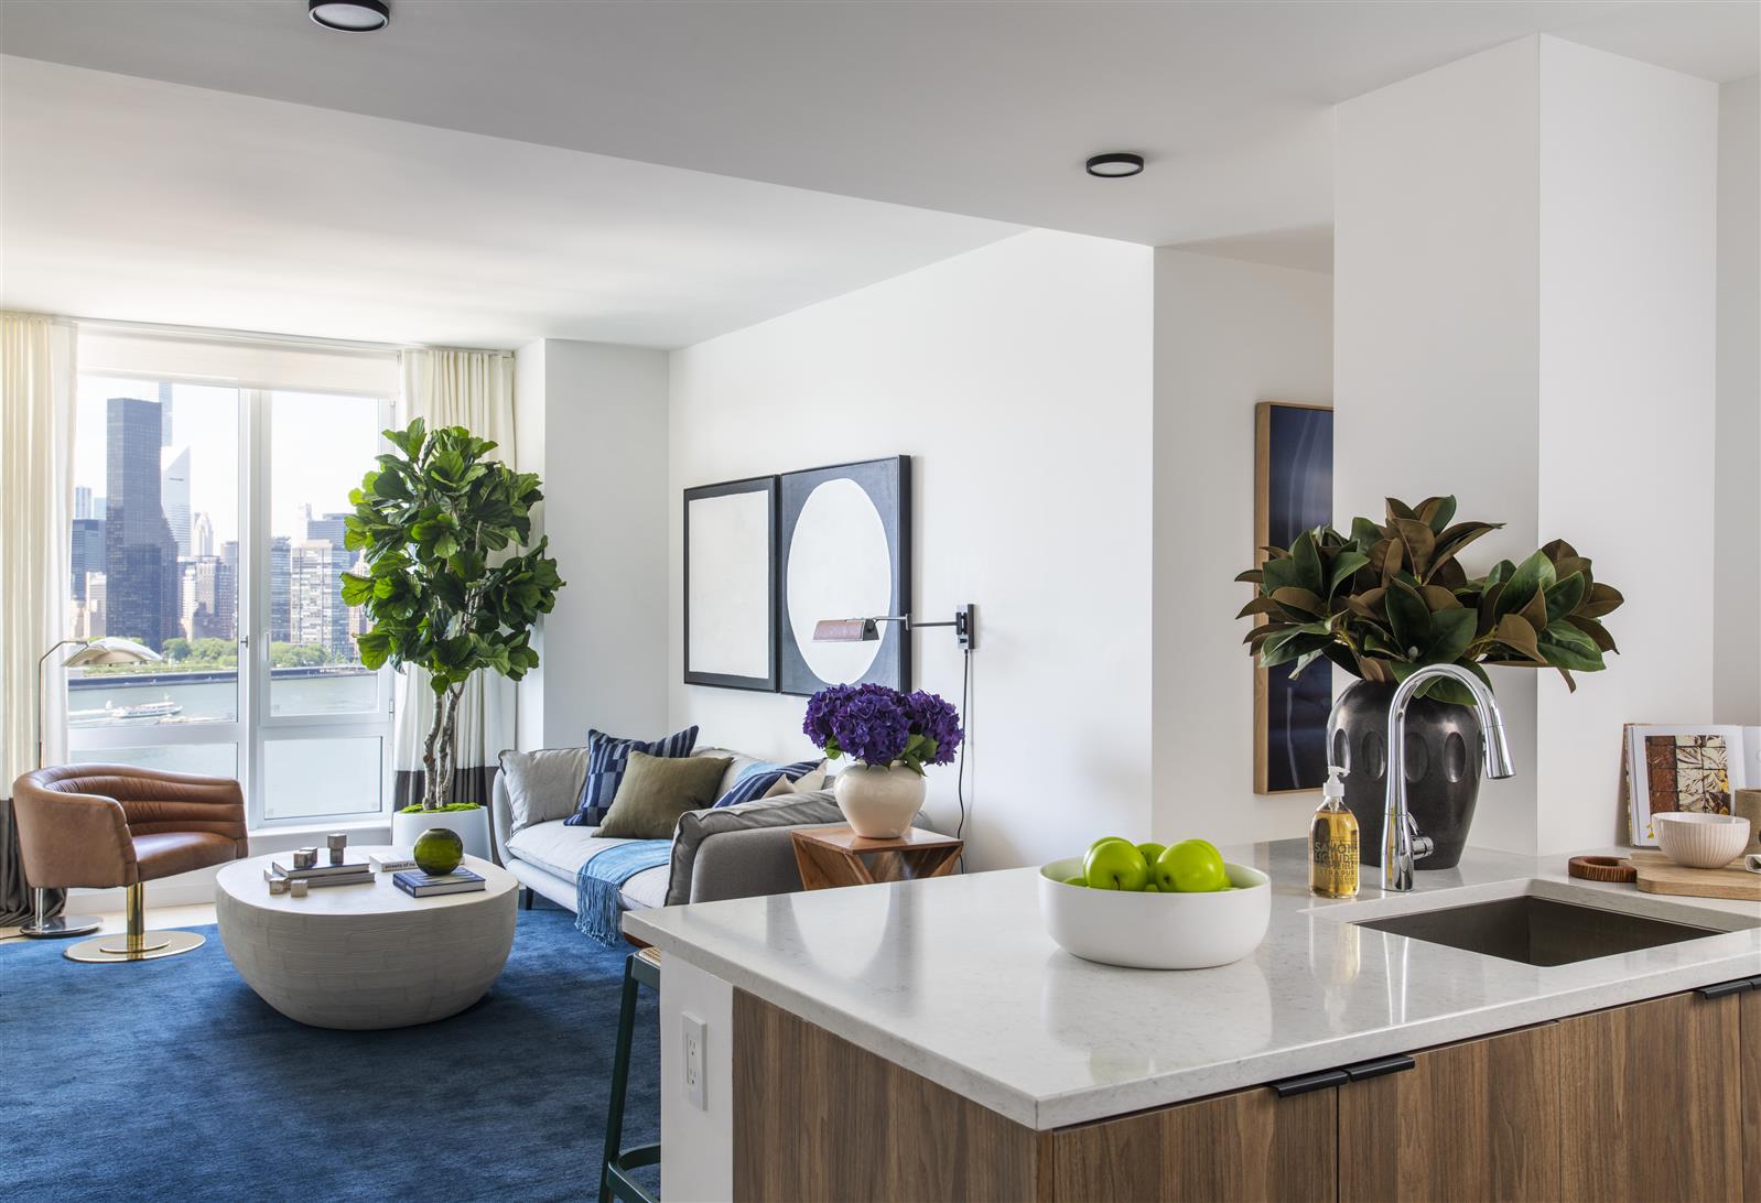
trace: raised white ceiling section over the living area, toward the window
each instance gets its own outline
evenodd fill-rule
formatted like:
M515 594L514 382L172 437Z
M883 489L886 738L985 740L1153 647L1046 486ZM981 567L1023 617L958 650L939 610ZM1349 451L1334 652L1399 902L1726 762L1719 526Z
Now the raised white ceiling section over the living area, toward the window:
M28 58L0 104L7 308L680 347L1016 232Z

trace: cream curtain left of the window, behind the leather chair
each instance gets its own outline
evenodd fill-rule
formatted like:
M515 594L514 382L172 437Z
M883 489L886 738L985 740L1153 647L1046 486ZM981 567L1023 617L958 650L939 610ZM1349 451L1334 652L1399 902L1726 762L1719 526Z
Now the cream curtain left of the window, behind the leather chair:
M69 632L72 497L74 328L0 314L0 798L37 766L37 659ZM42 715L44 763L58 764L67 754L67 692L55 657ZM4 819L0 923L16 923L23 881Z

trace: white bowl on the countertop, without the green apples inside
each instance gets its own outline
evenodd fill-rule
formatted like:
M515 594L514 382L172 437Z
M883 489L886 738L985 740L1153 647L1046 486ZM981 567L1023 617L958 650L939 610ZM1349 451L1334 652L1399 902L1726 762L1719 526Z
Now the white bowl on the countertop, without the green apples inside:
M1201 895L1125 893L1067 886L1079 856L1039 870L1039 914L1064 951L1127 969L1210 969L1242 960L1266 939L1271 879L1224 865L1234 889Z

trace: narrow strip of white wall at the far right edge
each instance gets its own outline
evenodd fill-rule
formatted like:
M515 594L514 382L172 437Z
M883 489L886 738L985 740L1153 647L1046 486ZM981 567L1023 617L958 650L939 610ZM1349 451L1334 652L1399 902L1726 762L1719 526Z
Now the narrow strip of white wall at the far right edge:
M1761 724L1761 76L1719 88L1713 717Z

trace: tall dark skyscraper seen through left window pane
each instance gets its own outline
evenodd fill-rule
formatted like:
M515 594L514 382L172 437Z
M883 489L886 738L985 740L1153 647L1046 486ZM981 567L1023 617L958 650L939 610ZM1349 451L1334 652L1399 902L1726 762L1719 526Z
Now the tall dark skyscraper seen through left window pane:
M109 398L104 444L106 627L109 634L141 639L155 652L181 631L178 544L160 500L160 423L157 402Z

